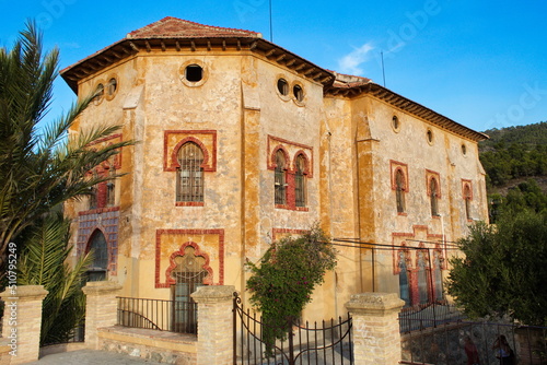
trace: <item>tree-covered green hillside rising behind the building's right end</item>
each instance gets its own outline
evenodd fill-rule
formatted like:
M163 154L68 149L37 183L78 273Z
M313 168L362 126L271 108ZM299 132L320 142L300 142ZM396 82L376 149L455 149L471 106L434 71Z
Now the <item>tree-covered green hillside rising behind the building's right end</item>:
M487 173L490 220L501 211L547 212L547 122L485 131L479 143Z

